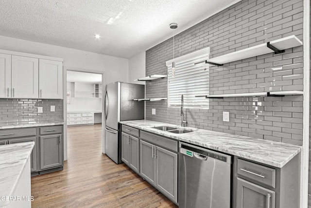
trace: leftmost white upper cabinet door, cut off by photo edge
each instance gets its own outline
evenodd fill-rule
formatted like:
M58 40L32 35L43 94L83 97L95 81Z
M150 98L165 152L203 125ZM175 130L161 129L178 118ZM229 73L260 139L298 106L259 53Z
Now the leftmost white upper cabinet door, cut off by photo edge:
M11 55L0 54L0 98L11 97Z

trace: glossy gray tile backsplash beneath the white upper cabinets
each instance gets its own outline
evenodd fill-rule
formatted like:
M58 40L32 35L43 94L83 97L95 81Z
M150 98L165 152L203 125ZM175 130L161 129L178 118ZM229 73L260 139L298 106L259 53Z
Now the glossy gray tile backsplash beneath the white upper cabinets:
M0 99L0 123L63 120L63 106L59 99ZM38 113L38 107L43 107L43 113Z

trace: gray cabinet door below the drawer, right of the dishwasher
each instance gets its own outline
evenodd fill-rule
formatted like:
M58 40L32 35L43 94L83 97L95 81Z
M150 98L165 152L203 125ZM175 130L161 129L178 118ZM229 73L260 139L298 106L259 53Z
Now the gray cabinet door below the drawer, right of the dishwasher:
M275 191L237 178L237 208L275 208Z

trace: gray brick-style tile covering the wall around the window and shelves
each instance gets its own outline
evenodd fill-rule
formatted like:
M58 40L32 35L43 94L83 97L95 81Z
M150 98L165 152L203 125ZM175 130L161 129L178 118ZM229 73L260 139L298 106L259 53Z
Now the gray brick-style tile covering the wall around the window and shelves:
M302 26L303 0L242 0L175 35L175 57L207 46L218 57L291 35L302 40ZM167 75L172 58L173 38L147 50L146 76ZM303 90L302 46L209 67L209 95L290 90ZM167 97L167 78L147 82L146 97ZM302 95L209 99L208 110L184 113L190 127L302 145ZM146 101L146 119L180 125L180 108Z

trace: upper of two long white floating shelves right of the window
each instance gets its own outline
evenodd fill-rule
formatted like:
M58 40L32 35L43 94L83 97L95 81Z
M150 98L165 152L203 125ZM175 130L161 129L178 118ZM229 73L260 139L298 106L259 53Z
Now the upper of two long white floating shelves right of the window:
M286 38L280 38L277 40L273 40L271 42L262 43L260 45L256 45L250 48L245 48L240 51L236 51L233 53L225 54L223 56L214 57L207 59L204 63L198 62L195 64L212 64L212 65L222 65L225 63L242 60L245 58L256 57L264 54L269 54L272 52L283 53L285 49L294 48L297 46L301 46L302 42L296 36L289 36Z

